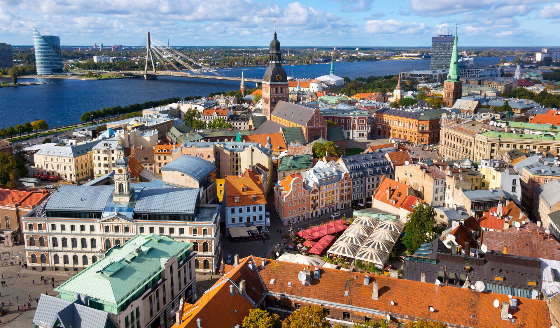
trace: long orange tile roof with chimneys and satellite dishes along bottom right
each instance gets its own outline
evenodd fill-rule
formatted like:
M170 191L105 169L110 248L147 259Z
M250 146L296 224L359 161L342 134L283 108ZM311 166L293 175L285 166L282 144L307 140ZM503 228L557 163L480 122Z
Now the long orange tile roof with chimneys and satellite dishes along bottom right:
M302 285L297 280L297 274L301 270L311 270L313 275L313 266L265 260L264 269L261 269L262 260L255 261L269 293L283 294L288 298L317 300L316 303L327 303L324 304L325 308L332 307L338 310L351 307L351 311L363 309L366 313L388 313L397 318L424 318L448 322L447 326L454 327L511 327L511 322L501 320L499 309L493 306L494 299L498 299L500 304L508 302L507 295L479 293L470 288L437 286L385 275L370 275L370 283L365 285L363 273L330 268L320 268L319 279L312 279L311 285ZM270 283L270 279L274 279L273 284ZM292 283L291 287L287 287L288 282ZM379 283L377 300L372 299L373 282ZM345 292L349 295L345 296ZM394 301L394 305L391 305L391 301ZM431 312L430 306L435 311ZM522 323L524 327L550 326L546 301L518 298L517 310L510 310L510 313L516 322ZM474 318L471 314L474 314Z

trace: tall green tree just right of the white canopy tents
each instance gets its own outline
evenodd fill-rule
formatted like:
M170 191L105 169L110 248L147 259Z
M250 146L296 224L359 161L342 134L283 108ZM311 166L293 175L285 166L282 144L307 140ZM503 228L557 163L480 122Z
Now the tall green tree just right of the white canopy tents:
M436 211L429 204L417 205L412 213L407 215L404 224L404 237L402 243L407 247L407 252L412 254L425 242L431 242L438 235L440 227L436 227Z

